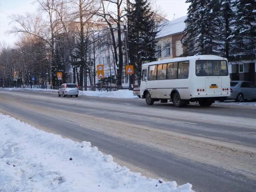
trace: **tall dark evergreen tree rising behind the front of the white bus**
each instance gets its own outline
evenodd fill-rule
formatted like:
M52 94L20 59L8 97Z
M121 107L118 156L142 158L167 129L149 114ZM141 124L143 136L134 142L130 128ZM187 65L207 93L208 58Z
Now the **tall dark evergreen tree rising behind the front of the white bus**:
M156 60L156 21L148 0L135 0L128 11L128 41L130 62L140 84L141 65L144 61Z

